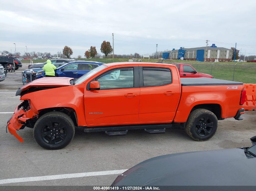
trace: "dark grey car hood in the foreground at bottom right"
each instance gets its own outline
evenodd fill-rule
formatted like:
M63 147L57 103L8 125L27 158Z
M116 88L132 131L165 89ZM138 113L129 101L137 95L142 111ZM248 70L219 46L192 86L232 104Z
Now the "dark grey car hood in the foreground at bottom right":
M112 186L255 186L256 158L244 149L168 154L118 176Z

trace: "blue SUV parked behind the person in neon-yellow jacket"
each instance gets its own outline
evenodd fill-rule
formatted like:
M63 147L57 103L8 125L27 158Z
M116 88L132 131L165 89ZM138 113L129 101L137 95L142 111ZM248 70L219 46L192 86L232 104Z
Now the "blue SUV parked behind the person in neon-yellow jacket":
M55 74L57 77L80 78L82 75L102 64L103 63L101 62L73 61L57 68L57 70L55 70ZM36 74L37 79L43 78L43 76L45 76L45 72L43 70Z

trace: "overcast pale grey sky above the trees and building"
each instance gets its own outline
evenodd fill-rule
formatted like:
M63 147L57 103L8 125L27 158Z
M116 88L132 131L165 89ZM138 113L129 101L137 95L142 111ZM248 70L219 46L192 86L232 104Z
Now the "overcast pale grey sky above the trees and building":
M115 54L179 47L235 46L256 55L256 1L0 0L0 51L52 54L65 45L72 57L114 33ZM102 53L101 53L102 54ZM248 54L246 54L248 55Z

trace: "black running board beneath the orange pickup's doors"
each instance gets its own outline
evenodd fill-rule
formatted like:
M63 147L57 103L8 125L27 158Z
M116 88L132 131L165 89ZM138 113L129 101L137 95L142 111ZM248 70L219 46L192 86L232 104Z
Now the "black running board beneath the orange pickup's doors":
M165 131L165 128L171 128L172 123L161 123L161 124L145 124L145 125L125 125L125 126L101 126L101 127L91 127L91 128L85 128L84 132L113 132L113 131L126 131L126 130L133 130L133 129L153 129L158 130L155 131L157 133L160 133L160 130ZM148 131L147 131L148 132Z

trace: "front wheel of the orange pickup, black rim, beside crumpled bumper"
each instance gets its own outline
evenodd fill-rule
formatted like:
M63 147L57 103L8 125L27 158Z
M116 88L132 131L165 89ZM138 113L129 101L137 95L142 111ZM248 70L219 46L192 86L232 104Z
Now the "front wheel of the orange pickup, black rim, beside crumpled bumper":
M64 148L72 141L74 135L74 122L67 114L58 111L45 113L34 126L35 141L49 150Z

